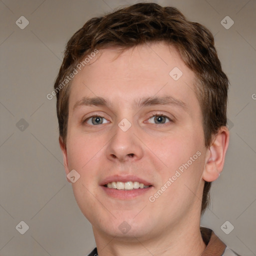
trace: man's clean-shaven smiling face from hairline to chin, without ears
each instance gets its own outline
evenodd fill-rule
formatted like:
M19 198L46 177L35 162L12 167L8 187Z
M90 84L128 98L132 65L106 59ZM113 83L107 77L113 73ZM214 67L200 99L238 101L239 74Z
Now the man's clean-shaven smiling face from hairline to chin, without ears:
M143 239L200 217L206 149L194 78L163 42L99 50L73 78L64 162L80 175L72 188L94 232Z

